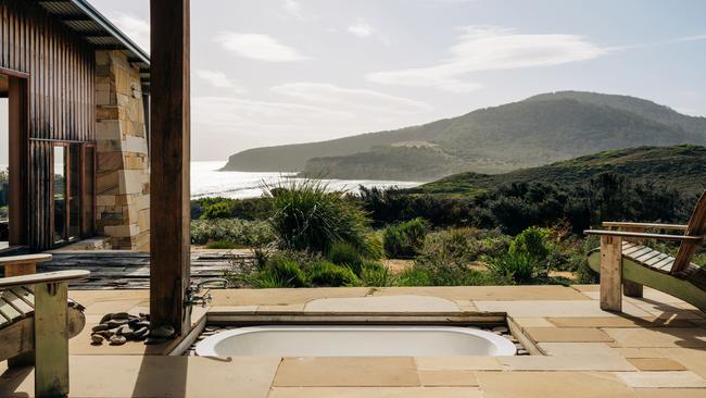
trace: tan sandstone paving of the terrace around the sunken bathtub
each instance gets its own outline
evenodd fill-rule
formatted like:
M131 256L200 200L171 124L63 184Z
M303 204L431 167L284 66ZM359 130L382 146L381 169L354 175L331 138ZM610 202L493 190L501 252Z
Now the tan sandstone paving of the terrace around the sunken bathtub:
M72 397L706 397L706 315L645 288L625 313L597 286L214 290L197 311L507 312L542 355L437 358L163 357L167 347L89 345L106 312L144 312L147 290L73 291L87 325L71 340ZM419 298L421 296L423 298ZM429 299L432 297L432 299ZM33 395L31 370L0 363L0 396Z

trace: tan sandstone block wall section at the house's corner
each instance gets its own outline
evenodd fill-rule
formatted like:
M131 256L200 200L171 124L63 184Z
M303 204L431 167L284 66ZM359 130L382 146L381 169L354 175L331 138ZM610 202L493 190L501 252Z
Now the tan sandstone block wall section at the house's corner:
M96 217L113 249L149 251L150 165L139 71L121 51L96 53Z

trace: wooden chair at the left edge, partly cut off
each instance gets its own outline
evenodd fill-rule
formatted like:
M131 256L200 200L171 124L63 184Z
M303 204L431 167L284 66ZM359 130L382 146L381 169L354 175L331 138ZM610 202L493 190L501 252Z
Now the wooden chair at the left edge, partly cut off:
M30 256L2 261L14 271L31 270L30 262ZM68 300L68 282L88 275L62 271L0 278L0 361L7 359L11 368L34 363L37 397L68 394L68 338L86 324L83 307Z

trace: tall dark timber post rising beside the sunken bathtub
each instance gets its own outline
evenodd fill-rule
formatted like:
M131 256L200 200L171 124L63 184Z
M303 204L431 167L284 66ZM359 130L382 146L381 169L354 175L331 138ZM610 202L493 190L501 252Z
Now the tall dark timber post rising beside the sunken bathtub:
M150 321L188 333L189 0L151 0Z

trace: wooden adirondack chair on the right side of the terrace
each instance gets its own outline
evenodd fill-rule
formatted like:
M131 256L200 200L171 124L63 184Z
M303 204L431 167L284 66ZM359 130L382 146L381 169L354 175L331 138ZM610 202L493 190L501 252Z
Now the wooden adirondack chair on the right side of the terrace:
M601 248L589 254L589 264L601 273L601 308L622 310L622 288L627 296L642 296L650 286L680 298L706 312L706 270L691 261L706 238L706 191L701 196L688 225L606 222L589 229L601 236ZM646 229L677 231L682 235L648 234ZM642 239L679 241L676 257L642 245Z

